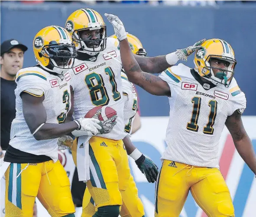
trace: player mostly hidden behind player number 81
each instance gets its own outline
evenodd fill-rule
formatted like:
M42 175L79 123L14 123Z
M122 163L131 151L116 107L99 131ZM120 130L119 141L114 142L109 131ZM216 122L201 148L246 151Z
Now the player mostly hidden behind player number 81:
M119 48L119 42L116 36L113 35L113 36L110 36L110 38L116 39L115 46ZM127 39L130 44L131 50L134 54L141 55L141 56L147 55L145 49L143 49L141 42L136 36L133 36L132 34L127 33ZM130 154L135 150L135 147L132 145L129 137L134 132L133 127L134 127L134 121L136 121L135 119L136 119L136 113L137 113L136 111L137 111L138 97L136 94L135 87L130 81L128 81L128 78L124 73L123 68L121 72L121 78L122 78L122 85L123 85L123 100L124 100L124 111L123 111L124 123L125 123L124 130L128 134L123 139L123 143L124 143L124 146L126 147L127 153ZM139 116L137 116L137 118L139 118ZM149 178L148 181L155 182L153 177L151 179ZM122 192L122 200L123 200L123 205L120 211L121 217L127 217L127 216L143 217L145 215L143 203L139 198L138 189L136 188L136 184L135 184L135 181L133 180L132 175L130 175L126 190ZM85 193L84 193L83 207L84 209L83 209L82 217L91 217L96 212L94 207L94 200L91 197L91 194L88 188L85 190Z

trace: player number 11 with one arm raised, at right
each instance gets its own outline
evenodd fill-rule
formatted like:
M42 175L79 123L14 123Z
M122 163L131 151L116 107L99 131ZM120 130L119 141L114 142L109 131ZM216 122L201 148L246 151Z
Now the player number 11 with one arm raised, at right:
M254 174L256 155L241 120L246 98L233 78L237 61L232 47L222 39L203 39L202 44L197 43L201 48L196 49L194 69L178 64L157 77L140 69L120 19L105 16L120 40L128 79L151 94L169 97L167 149L156 183L155 216L178 217L190 190L208 217L234 217L230 192L218 165L218 143L224 125ZM166 59L174 65L194 50L194 45L177 50Z

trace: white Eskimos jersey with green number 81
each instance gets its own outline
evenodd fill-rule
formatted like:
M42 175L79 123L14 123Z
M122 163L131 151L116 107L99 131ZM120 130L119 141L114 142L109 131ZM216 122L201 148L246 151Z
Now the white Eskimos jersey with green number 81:
M78 119L94 107L107 105L117 111L117 124L113 130L101 136L123 139L126 136L123 122L123 94L121 57L114 46L115 39L107 39L107 48L87 60L75 59L71 86L74 89L74 113Z

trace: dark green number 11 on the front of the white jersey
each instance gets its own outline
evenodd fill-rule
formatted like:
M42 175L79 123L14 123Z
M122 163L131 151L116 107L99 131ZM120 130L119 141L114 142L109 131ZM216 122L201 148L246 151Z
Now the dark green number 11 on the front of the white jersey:
M201 97L193 97L191 102L193 103L193 110L191 121L187 124L187 129L198 132L198 117L201 107ZM217 101L210 100L208 106L210 107L210 113L208 116L208 123L204 126L203 133L212 135L214 132L214 121L217 114Z

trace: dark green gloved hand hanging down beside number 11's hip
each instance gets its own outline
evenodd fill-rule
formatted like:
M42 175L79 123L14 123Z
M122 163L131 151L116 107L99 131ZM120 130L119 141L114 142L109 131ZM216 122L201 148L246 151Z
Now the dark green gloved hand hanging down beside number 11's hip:
M141 155L135 162L140 171L146 176L148 182L154 183L158 175L158 167L156 164L144 155Z

